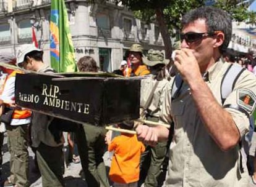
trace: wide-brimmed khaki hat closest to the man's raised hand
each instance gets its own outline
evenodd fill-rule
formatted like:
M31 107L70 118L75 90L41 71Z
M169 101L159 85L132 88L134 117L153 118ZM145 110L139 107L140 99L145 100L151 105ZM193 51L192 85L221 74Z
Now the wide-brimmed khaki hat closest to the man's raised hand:
M164 64L167 65L170 60L164 58L163 52L160 50L148 50L147 57L142 57L143 63L147 66L155 66L157 64Z

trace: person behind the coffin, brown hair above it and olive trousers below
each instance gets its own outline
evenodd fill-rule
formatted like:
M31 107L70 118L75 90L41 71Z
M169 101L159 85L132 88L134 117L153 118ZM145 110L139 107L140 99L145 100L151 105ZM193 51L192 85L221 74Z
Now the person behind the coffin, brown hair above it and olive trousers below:
M92 57L84 56L77 62L79 71L98 72L98 67ZM103 161L106 151L104 127L96 127L83 123L77 133L77 145L85 179L88 186L109 187L108 175Z

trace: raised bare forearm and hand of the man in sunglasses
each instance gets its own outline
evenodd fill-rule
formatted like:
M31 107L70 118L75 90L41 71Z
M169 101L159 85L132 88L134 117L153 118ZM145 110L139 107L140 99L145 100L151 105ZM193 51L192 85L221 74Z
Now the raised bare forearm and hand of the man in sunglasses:
M216 101L211 90L203 81L198 62L189 49L176 53L176 65L184 81L187 81L200 118L211 137L224 151L237 145L240 139L239 129L231 114ZM215 63L211 59L211 63ZM209 64L207 64L209 66ZM189 67L189 68L187 68Z

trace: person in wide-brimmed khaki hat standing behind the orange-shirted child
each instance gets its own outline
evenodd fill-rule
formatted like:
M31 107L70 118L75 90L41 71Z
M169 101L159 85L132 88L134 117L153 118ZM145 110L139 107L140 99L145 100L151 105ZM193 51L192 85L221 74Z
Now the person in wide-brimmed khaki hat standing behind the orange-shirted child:
M169 60L164 59L160 50L148 50L147 57L143 62L148 66L150 74L141 81L140 87L140 118L148 121L158 122L161 112L161 94L169 81L165 78L165 66ZM161 165L166 156L167 141L159 142L156 146L147 145L145 153L142 154L140 181L144 186L158 186L158 177L161 172ZM148 167L148 162L150 165Z

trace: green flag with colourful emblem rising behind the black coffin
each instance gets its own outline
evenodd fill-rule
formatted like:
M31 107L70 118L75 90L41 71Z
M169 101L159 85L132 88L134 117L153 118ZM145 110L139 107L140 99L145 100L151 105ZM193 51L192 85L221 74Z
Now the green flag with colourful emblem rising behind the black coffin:
M76 71L75 51L64 0L51 1L50 31L51 67L59 73Z

